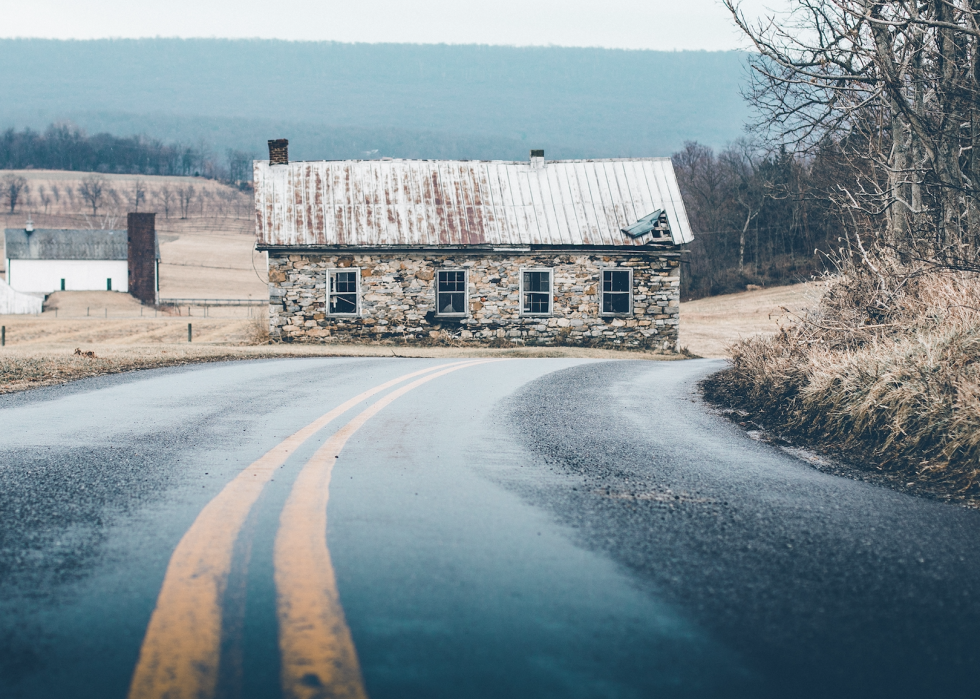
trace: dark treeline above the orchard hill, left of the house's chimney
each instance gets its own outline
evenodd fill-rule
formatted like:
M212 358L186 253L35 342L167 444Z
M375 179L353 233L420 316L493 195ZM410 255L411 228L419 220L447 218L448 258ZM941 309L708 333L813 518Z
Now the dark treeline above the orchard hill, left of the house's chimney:
M89 136L70 125L52 124L43 133L7 129L0 135L0 169L28 168L247 182L252 179L252 154L229 150L219 157L206 146L166 144L145 136Z

